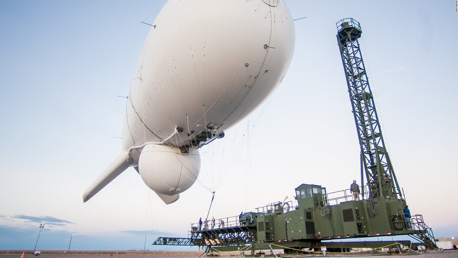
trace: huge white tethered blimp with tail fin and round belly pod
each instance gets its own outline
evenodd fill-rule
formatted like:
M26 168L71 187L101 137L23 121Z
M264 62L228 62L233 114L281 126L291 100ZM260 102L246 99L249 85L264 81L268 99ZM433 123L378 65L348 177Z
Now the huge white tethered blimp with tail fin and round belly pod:
M154 24L130 86L123 152L84 200L132 166L164 202L176 201L199 174L198 147L272 95L294 52L281 0L170 0Z

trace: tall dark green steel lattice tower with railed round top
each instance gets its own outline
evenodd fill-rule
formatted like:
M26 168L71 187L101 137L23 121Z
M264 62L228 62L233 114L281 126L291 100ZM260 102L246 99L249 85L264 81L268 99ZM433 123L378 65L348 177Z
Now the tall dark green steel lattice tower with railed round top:
M374 98L361 55L358 42L362 33L360 23L353 18L346 18L336 25L337 41L361 147L361 183L364 186L365 172L370 198L383 196L402 198L398 180L383 142ZM365 187L362 189L364 198Z

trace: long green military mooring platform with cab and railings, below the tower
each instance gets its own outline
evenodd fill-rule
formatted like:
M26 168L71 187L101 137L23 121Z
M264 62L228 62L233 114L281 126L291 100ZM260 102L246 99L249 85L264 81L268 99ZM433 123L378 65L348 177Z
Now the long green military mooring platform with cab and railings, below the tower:
M413 215L412 229L408 228L403 199L368 196L354 201L350 189L327 193L321 185L307 184L298 186L295 192L296 205L292 201L274 202L256 208L256 212L218 219L224 221L224 227L198 230L194 223L189 238L159 237L154 244L196 245L221 251L284 249L290 253L322 246L338 250L379 248L395 242L359 240L353 245L348 240L338 242L348 238L409 235L419 241L417 245L434 248L434 236L421 215Z

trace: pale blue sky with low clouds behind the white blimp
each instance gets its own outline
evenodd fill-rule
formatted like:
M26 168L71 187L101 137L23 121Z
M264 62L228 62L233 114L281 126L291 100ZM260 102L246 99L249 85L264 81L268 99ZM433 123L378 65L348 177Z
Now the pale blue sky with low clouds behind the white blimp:
M410 211L458 236L458 16L454 1L287 1L296 49L268 105L202 149L199 182L169 206L128 169L82 193L120 151L125 96L164 1L0 2L0 249L141 250L210 216L349 188L359 145L335 23L361 23L365 65ZM222 154L224 152L224 155ZM280 175L280 176L279 176ZM163 249L165 247L154 247ZM153 249L151 247L150 249Z

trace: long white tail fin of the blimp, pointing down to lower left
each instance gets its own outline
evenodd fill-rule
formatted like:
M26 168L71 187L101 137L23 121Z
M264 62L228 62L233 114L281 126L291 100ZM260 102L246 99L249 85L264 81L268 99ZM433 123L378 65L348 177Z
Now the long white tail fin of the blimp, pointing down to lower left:
M125 169L129 168L133 160L129 158L126 151L122 151L118 157L104 170L102 174L89 186L83 194L83 202L91 199L98 191L102 190L113 179L120 175ZM178 199L178 198L177 198Z

